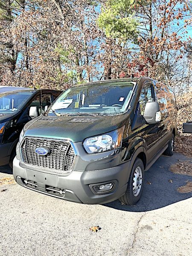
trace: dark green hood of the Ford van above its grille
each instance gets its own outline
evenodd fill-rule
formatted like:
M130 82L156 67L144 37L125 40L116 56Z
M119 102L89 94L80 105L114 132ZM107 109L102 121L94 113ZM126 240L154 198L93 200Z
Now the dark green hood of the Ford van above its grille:
M87 137L108 133L125 125L128 113L118 116L39 116L28 122L24 137L68 139L82 142Z

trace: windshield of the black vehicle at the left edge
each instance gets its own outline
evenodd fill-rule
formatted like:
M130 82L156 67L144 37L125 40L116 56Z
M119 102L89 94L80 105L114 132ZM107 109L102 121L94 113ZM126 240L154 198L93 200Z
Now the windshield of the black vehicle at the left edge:
M7 92L0 93L0 113L13 113L17 111L33 92Z

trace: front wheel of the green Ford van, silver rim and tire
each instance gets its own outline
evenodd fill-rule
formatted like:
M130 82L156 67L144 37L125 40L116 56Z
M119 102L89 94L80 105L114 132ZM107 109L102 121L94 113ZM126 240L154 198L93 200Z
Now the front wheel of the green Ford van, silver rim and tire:
M140 200L143 192L144 166L140 158L136 158L131 169L127 190L119 200L123 204L134 205Z

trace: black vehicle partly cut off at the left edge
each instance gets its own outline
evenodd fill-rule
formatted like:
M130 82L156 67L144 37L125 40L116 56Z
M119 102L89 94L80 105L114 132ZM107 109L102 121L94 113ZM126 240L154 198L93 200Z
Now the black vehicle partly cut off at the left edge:
M0 166L12 162L23 126L47 110L57 90L0 86Z

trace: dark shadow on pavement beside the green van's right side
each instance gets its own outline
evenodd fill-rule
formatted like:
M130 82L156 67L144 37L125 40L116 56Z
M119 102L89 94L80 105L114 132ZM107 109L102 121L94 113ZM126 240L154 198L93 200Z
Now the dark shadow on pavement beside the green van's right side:
M172 157L161 156L154 165L145 172L143 195L135 206L122 205L119 200L105 204L107 207L129 212L146 212L159 209L170 204L192 197L192 192L179 193L177 188L184 186L185 181L192 181L192 177L179 175L169 171L169 166L178 160L190 160L182 154L175 153ZM172 180L173 183L170 183ZM150 181L151 185L147 184Z

